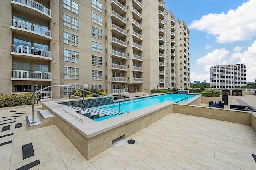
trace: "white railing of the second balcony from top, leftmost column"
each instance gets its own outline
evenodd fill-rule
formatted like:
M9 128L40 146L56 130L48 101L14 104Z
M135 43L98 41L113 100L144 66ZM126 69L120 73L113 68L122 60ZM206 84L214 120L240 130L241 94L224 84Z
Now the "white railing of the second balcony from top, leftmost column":
M12 19L12 27L52 39L52 33L50 30L29 22Z

